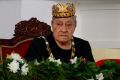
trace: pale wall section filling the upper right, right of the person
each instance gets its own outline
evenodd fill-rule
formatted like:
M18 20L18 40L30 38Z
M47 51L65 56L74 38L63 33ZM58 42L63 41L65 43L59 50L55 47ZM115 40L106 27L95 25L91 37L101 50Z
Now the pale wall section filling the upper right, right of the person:
M120 0L81 0L79 4L81 37L93 47L120 47Z

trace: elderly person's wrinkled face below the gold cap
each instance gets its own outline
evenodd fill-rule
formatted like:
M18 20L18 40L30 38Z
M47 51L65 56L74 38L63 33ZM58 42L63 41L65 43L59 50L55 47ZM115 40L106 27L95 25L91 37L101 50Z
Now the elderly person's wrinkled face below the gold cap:
M54 18L52 21L52 29L55 40L63 43L70 41L75 27L75 17Z

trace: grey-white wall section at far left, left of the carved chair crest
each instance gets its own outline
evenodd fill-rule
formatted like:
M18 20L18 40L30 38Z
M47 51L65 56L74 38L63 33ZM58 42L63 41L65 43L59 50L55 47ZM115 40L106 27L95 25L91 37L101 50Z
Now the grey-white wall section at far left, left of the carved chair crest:
M0 0L0 38L12 38L15 24L20 20L20 0Z

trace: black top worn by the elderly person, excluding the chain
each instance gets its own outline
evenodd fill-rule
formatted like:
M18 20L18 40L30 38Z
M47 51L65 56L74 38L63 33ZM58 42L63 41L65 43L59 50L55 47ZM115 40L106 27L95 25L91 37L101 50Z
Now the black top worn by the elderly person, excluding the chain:
M51 52L54 55L55 59L60 59L61 61L69 62L69 60L71 59L72 49L70 50L61 49L56 44L53 35L46 36L46 39L49 42ZM75 56L85 58L88 61L94 61L91 47L88 41L74 37L74 43L76 49ZM28 49L28 52L25 56L25 59L27 61L32 61L34 59L41 61L42 59L47 59L48 57L49 53L46 50L45 40L43 38L33 39Z

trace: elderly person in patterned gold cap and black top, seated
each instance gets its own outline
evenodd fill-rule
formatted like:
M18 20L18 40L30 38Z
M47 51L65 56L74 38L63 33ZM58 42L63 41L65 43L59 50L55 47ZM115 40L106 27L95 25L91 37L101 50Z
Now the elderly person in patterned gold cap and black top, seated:
M51 35L35 38L25 56L27 61L47 59L49 56L69 62L82 57L94 61L89 42L73 36L76 28L75 6L71 3L59 3L52 7Z

